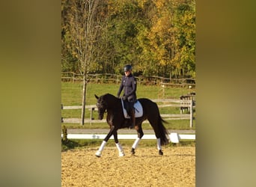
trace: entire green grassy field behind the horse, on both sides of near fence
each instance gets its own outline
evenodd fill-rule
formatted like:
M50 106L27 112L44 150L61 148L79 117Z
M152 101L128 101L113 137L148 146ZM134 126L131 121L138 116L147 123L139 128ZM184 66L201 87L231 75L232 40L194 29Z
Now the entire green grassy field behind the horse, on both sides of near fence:
M117 84L88 84L86 105L94 105L97 100L94 94L101 96L105 93L111 93L116 95L119 85ZM148 99L179 99L181 95L195 92L195 89L189 88L162 88L160 86L152 85L138 85L137 97ZM82 101L82 83L79 82L61 82L61 104L67 105L81 105ZM161 103L157 103L160 105ZM180 108L177 107L165 107L159 108L161 114L180 114ZM194 112L195 114L195 112ZM81 109L62 110L61 116L64 118L80 118ZM90 111L85 111L85 118L90 118ZM94 111L94 118L97 118L97 111ZM107 129L109 128L106 120L103 123L85 123L84 126L79 123L62 123L62 126L66 126L67 129L82 128L82 129ZM167 129L190 129L189 120L168 120L168 124L165 124ZM143 124L143 129L152 129L149 123ZM195 120L193 121L193 127L195 129Z

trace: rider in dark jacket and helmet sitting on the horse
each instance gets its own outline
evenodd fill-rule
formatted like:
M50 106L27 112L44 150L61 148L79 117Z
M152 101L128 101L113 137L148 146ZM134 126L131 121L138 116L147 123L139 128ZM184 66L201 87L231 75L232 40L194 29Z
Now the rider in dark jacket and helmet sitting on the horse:
M129 128L134 128L135 124L135 110L133 108L133 105L137 99L136 96L136 79L134 76L132 76L132 66L126 65L124 66L124 73L125 76L122 77L121 85L118 91L118 97L121 94L121 91L124 89L124 96L122 97L124 101L128 101L129 103L129 111L127 112L129 116L132 119L132 126L129 126Z

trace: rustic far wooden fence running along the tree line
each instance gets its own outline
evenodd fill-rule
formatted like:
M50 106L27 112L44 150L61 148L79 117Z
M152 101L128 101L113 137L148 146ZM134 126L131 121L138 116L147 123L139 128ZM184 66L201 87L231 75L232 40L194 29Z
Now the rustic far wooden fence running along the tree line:
M115 83L121 82L121 75L103 73L103 74L88 74L88 82L92 83ZM195 79L170 79L159 76L135 76L138 84L141 85L162 85L166 87L191 87L195 88ZM61 81L82 82L83 76L73 72L62 72Z

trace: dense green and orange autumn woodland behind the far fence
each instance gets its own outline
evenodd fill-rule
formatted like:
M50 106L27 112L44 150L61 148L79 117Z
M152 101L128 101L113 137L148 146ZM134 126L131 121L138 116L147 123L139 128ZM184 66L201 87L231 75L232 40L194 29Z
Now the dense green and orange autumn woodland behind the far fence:
M94 40L84 37L81 45L70 36L82 38L85 33L77 27L88 24L88 19L68 18L73 4L88 1L62 1L62 70L79 73L79 50L94 42L93 58L86 57L94 59L87 64L88 73L122 73L124 64L132 64L136 76L195 78L195 0L97 1L97 33ZM72 25L73 30L67 29Z

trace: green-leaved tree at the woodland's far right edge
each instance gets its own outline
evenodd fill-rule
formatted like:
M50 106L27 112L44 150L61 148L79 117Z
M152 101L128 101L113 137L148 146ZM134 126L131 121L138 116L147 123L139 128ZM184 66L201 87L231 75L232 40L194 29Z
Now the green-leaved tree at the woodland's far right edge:
M195 77L195 0L173 1L174 58L179 76Z

